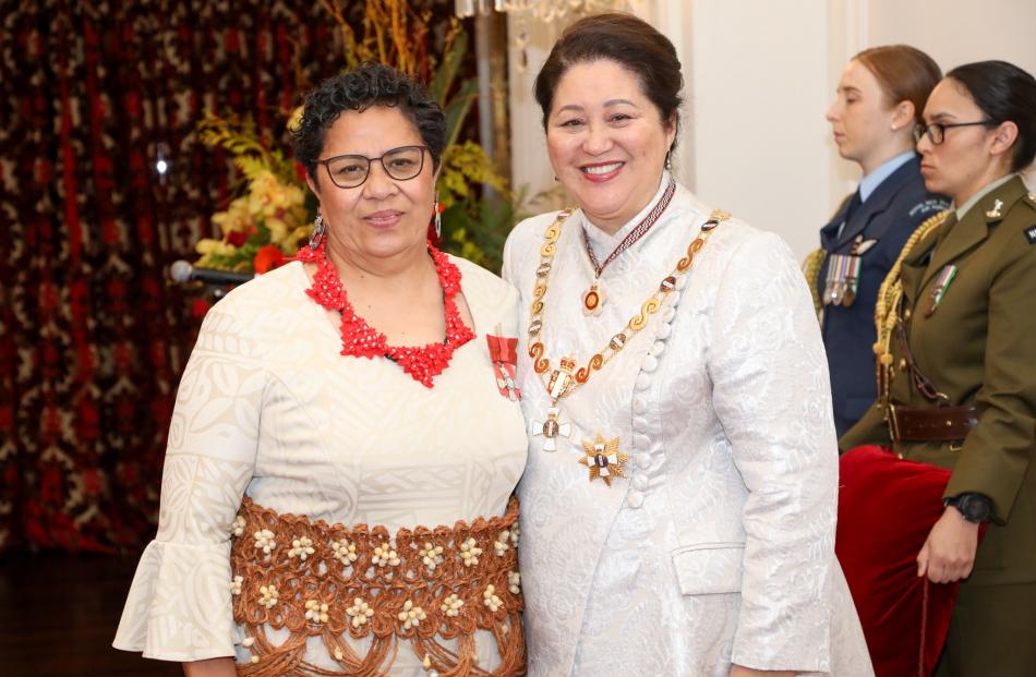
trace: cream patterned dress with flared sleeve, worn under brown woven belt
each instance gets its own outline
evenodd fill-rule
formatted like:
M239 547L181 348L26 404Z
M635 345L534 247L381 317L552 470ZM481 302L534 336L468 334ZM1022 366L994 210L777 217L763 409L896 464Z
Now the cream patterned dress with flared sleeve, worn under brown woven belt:
M386 359L340 355L338 316L305 295L301 263L209 311L177 396L158 533L141 558L116 648L167 661L251 658L231 613L229 560L245 495L280 513L389 533L504 515L528 443L519 404L497 388L486 335L516 336L517 293L450 259L475 338L431 389ZM492 667L495 644L475 639L479 665ZM306 649L308 662L336 667L318 638ZM427 672L402 644L391 674Z

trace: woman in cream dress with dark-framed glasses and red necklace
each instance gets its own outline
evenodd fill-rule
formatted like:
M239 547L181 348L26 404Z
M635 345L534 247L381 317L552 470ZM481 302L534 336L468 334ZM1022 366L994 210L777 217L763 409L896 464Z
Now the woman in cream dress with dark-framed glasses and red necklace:
M429 241L445 132L382 64L309 96L313 239L205 318L117 648L189 677L525 673L518 294Z

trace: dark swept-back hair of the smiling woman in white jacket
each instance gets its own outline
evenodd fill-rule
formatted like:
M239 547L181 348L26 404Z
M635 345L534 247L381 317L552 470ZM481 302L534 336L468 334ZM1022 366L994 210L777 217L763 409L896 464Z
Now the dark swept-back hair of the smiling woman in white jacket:
M676 48L651 24L633 14L618 12L587 16L570 25L551 49L533 93L543 111L543 129L554 105L557 84L578 64L606 59L636 75L640 89L654 104L663 124L675 120L679 126L679 107L684 99ZM676 142L673 142L673 146ZM672 150L672 148L670 148Z

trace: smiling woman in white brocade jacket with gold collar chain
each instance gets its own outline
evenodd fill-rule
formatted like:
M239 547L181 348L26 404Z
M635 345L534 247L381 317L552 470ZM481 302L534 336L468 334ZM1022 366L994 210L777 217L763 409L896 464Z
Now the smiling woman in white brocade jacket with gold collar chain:
M779 238L667 171L680 85L672 45L623 14L571 26L537 80L579 208L505 252L529 675L871 675L809 291Z

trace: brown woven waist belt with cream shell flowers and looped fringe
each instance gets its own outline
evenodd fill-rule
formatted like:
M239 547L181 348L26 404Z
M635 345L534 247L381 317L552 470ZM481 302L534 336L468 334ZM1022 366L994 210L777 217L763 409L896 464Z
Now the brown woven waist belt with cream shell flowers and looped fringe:
M511 677L526 672L518 577L518 501L499 518L454 528L328 525L278 515L245 498L230 564L233 619L244 626L248 677L389 675L400 644L441 677ZM280 645L265 627L290 633ZM477 663L475 632L495 639L499 665ZM340 670L308 663L318 637ZM348 638L370 643L359 655ZM443 640L456 640L456 649Z

